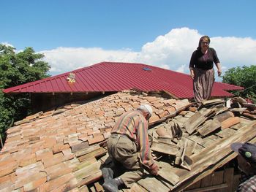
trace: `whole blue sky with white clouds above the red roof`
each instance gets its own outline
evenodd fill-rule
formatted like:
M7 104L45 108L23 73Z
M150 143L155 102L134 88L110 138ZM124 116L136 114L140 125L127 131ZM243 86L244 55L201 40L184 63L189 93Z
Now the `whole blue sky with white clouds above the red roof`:
M225 72L256 63L255 7L254 0L1 1L0 43L44 53L51 74L100 61L187 73L206 34Z

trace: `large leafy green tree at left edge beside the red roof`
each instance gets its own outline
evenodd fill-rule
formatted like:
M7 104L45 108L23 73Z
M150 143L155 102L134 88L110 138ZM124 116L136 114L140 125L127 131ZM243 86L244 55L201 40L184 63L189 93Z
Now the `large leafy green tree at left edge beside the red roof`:
M5 131L13 121L25 118L30 113L29 94L7 95L5 88L21 85L48 77L48 63L42 61L43 54L35 53L33 48L15 53L15 48L0 44L0 134L5 138Z

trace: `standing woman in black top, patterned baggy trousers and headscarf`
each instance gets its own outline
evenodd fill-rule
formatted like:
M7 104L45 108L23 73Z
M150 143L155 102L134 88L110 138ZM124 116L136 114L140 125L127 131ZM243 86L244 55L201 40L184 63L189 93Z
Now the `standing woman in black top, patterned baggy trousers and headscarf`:
M199 106L203 100L211 97L211 90L214 85L214 64L217 66L218 75L222 74L217 53L209 45L210 38L208 36L201 37L197 50L192 53L189 63L194 97Z

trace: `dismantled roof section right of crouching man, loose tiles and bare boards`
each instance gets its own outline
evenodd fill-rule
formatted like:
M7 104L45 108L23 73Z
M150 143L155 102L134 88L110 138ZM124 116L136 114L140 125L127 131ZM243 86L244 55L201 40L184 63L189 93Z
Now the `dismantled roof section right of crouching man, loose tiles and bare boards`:
M239 111L236 108L225 107L224 102L222 99L203 101L202 107L189 107L151 128L148 131L153 138L151 150L162 167L158 179L161 183L146 177L138 184L147 191L156 191L157 188L165 188L163 191L184 189L189 185L182 184L189 177L195 177L219 161L227 162L225 156L232 153L231 143L249 139L256 142L255 120L236 113ZM250 108L253 106L245 105Z

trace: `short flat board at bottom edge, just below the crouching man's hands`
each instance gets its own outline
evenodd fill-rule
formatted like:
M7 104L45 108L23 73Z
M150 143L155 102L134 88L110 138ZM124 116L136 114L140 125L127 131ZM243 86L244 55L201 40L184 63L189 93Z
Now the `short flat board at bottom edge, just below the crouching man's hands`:
M147 191L159 191L167 192L170 191L170 188L167 188L163 183L157 180L155 177L146 177L137 182L143 188L146 188Z

